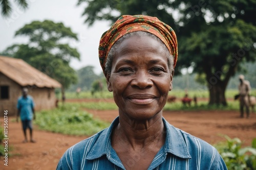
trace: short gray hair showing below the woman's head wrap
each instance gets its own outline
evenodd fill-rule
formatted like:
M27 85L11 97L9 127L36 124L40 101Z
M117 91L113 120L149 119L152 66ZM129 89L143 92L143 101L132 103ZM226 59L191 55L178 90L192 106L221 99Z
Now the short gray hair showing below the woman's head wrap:
M165 44L154 34L144 32L144 31L136 31L136 32L125 34L119 40L117 40L115 42L115 44L111 47L108 57L106 58L105 72L104 72L105 75L106 74L111 75L112 62L113 62L113 58L116 53L116 50L118 48L118 44L120 44L125 38L129 38L129 37L133 37L133 36L137 36L137 37L149 36L149 37L154 38L158 42L160 42L160 44L161 44L160 47L164 50L164 55L167 58L167 64L169 66L170 73L172 73L174 71L174 57L172 54L170 54L170 52L168 51L168 48L165 46Z

